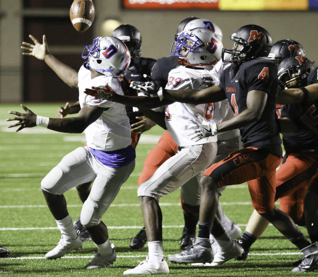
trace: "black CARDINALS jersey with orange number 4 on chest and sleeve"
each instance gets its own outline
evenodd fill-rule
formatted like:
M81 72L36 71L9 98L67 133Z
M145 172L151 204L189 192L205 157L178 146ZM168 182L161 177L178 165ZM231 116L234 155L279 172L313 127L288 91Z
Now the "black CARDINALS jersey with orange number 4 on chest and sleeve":
M281 155L281 139L276 124L276 97L278 90L277 66L271 60L251 60L240 66L227 67L219 85L226 94L235 115L247 109L247 93L262 90L267 93L265 109L256 122L239 128L244 147L266 148Z

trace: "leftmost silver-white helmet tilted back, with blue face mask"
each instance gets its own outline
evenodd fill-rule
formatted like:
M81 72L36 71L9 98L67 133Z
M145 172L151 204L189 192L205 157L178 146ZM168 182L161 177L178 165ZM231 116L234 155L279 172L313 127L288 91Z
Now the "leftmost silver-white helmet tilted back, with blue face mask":
M85 46L82 58L88 57L88 66L106 76L120 75L130 64L127 46L112 36L97 37L93 44Z

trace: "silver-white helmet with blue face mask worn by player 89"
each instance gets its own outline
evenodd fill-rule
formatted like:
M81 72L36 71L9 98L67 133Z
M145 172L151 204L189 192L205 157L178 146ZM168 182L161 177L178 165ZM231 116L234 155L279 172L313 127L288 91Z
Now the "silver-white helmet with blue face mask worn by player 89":
M211 69L222 57L222 42L209 29L183 31L171 46L170 54L178 56L179 65Z

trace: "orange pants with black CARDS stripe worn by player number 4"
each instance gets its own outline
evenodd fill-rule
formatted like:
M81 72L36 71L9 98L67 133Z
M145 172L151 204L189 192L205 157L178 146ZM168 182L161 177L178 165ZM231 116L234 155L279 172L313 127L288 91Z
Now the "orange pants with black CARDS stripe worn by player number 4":
M247 181L254 209L266 213L275 207L276 167L280 160L264 149L246 147L211 165L204 175L212 177L219 187Z

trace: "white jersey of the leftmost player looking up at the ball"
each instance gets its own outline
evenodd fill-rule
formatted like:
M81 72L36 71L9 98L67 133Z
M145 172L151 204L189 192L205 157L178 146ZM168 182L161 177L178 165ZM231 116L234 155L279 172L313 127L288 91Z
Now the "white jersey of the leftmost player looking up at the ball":
M82 66L78 73L79 104L105 108L101 116L85 129L87 146L101 150L114 151L131 144L129 118L123 104L96 99L84 93L86 88L108 85L119 95L124 95L120 81L113 76L97 76L91 79L90 70Z

